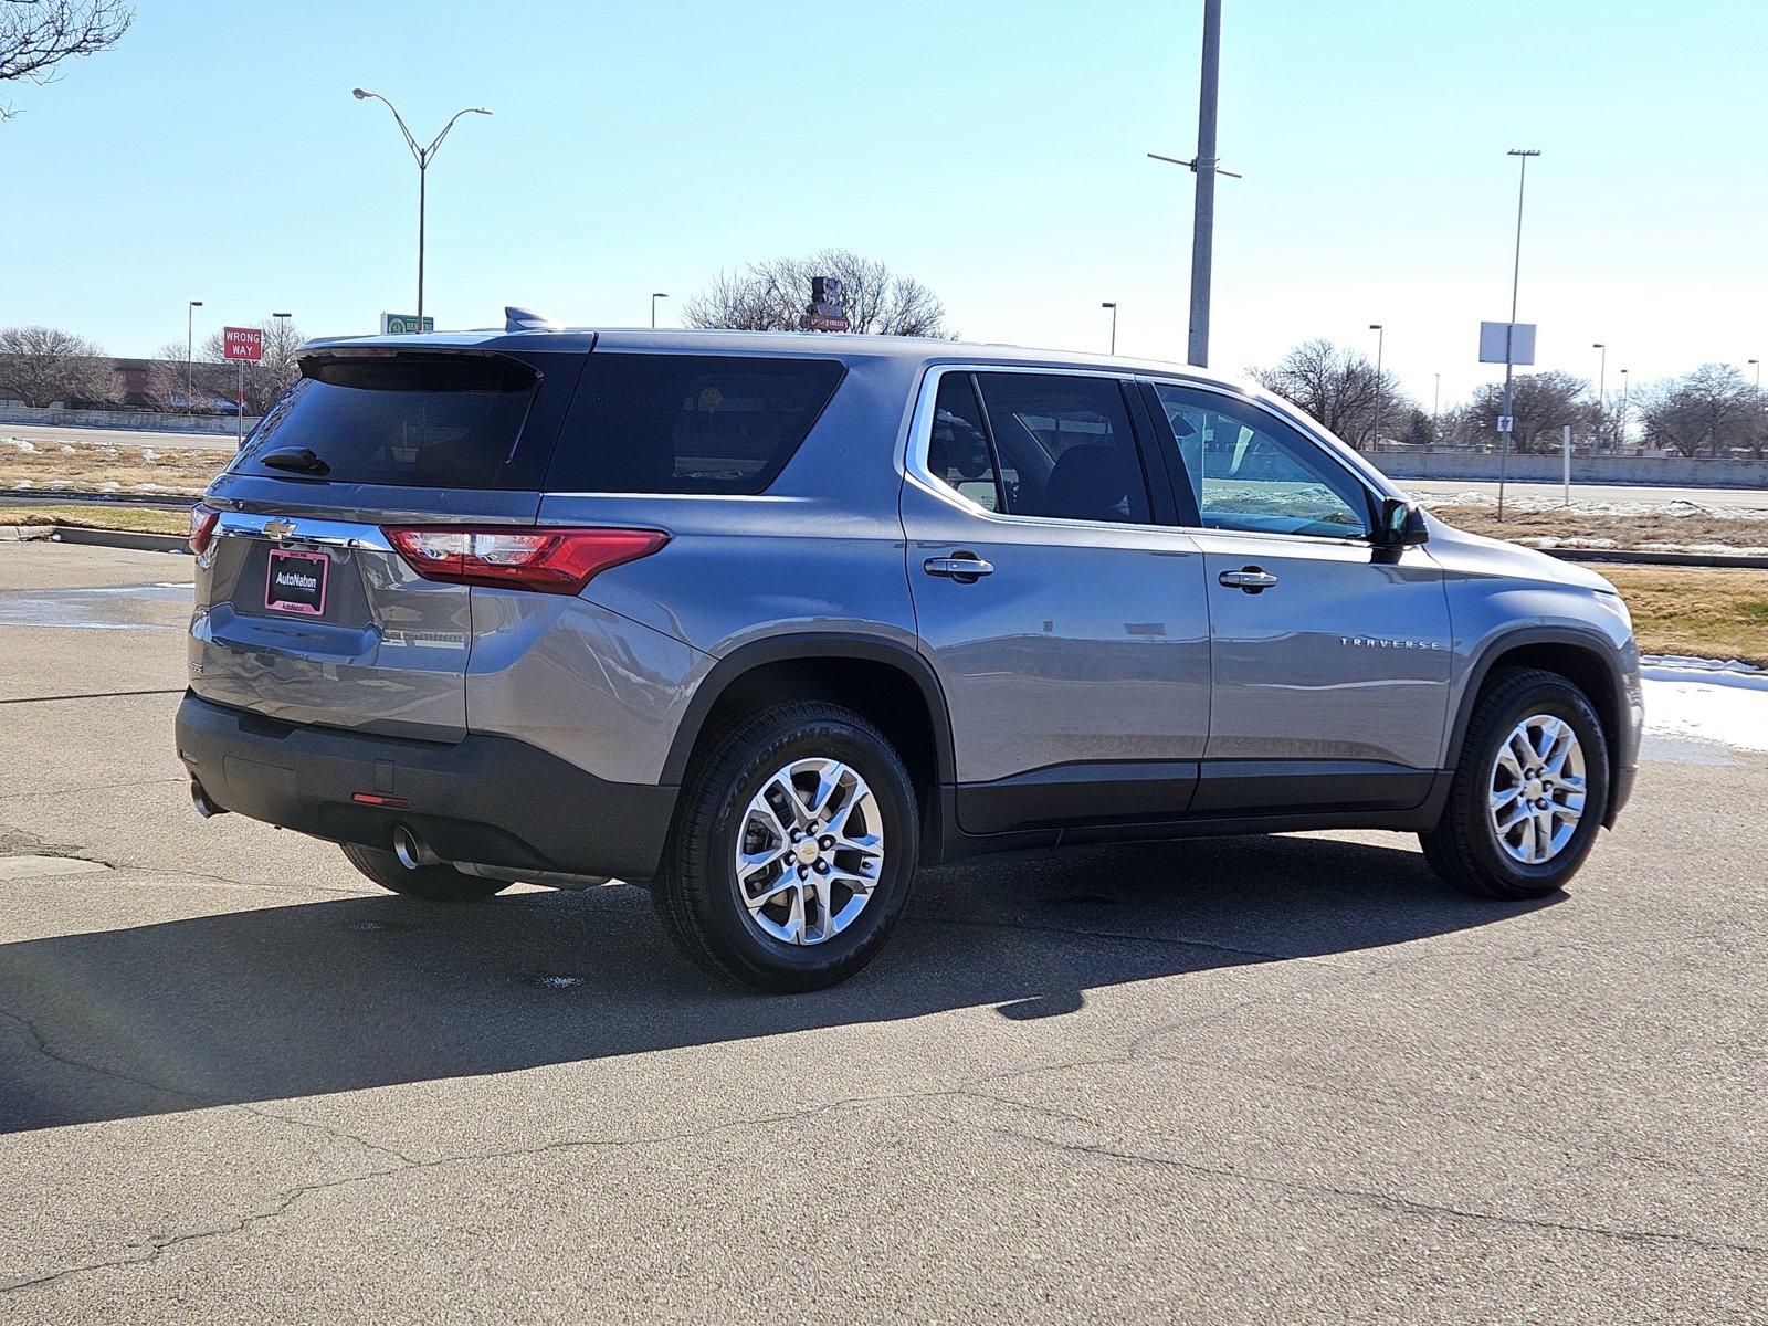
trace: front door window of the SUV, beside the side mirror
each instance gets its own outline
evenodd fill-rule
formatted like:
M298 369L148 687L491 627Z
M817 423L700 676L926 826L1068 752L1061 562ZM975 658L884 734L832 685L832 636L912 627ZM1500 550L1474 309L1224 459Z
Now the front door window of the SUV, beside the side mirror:
M1211 392L1156 384L1155 394L1208 529L1368 534L1363 488L1301 433Z

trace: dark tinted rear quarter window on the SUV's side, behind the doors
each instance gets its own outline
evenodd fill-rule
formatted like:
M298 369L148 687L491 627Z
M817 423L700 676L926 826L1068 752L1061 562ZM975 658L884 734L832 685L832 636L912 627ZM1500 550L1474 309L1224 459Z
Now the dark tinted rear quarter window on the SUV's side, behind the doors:
M834 359L589 355L546 488L758 493L840 384Z

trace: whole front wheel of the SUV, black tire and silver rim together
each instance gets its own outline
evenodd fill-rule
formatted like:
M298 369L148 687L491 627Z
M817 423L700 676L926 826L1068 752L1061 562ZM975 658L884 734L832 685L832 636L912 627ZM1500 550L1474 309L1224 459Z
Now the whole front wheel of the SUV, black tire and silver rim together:
M1496 674L1475 704L1455 781L1425 859L1492 898L1565 886L1609 808L1609 743L1589 698L1540 668Z

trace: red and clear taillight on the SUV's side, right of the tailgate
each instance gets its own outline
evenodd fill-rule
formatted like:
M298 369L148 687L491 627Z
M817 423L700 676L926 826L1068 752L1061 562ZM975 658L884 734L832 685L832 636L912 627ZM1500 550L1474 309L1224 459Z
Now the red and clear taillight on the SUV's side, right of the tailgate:
M649 557L668 534L654 529L389 527L400 557L424 580L580 594L601 571Z

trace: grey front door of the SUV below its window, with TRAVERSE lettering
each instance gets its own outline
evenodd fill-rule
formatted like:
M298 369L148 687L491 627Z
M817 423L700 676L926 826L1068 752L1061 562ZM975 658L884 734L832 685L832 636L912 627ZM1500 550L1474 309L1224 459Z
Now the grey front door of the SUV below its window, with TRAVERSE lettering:
M1420 548L1206 530L1209 760L1379 760L1432 769L1448 709L1443 571ZM1220 583L1262 571L1246 592ZM1365 771L1367 773L1367 771Z

